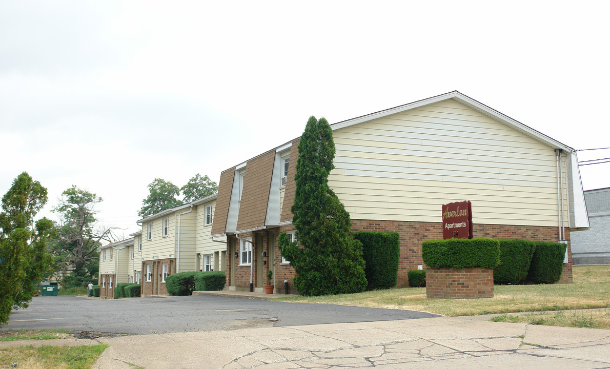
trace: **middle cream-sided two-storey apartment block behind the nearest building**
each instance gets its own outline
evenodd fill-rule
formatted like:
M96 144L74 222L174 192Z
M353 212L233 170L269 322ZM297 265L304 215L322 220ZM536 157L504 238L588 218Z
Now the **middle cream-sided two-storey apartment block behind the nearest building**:
M216 194L138 220L142 297L167 295L165 279L181 271L224 270L226 243L210 238Z

